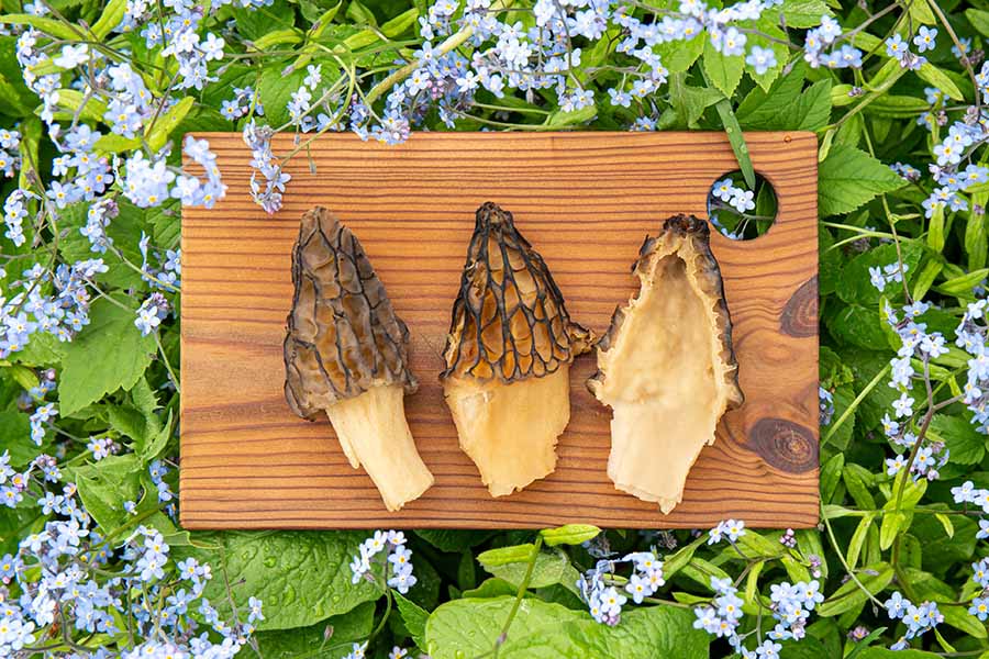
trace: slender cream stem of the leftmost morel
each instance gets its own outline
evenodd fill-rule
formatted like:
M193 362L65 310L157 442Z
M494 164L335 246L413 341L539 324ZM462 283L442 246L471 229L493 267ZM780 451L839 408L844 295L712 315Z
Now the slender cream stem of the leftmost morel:
M389 511L400 510L433 484L405 421L401 384L371 387L329 405L326 416L351 466L364 467Z

